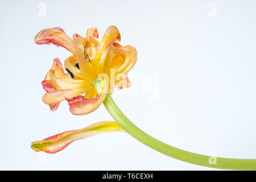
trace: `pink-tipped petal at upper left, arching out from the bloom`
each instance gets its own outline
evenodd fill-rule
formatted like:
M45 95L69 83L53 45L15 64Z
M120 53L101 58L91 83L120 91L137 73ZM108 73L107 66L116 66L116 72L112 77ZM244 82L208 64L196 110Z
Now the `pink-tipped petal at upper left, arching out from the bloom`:
M65 34L62 28L55 27L55 28L44 29L38 32L38 34L36 34L34 41L36 44L52 43L52 44L55 44L56 46L64 47L68 49L68 51L76 55L75 45L73 43L73 40L69 38L67 34Z

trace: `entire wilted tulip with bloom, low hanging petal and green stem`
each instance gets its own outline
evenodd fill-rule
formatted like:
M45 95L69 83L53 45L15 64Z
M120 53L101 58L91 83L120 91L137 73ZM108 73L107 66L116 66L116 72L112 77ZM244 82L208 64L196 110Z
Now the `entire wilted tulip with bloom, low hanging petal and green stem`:
M62 28L47 28L35 36L36 44L55 44L73 55L64 61L53 59L42 85L46 94L43 102L55 111L60 102L67 101L71 113L84 115L96 110L101 103L114 118L115 122L98 122L84 129L65 131L46 139L32 142L35 151L56 153L75 140L96 134L123 131L130 134L148 147L184 162L221 169L256 170L256 159L232 159L196 154L163 143L134 125L115 104L111 94L114 88L129 87L128 72L137 61L137 51L133 46L121 46L121 36L117 27L110 26L100 42L96 28L89 28L86 38L74 34L69 38Z

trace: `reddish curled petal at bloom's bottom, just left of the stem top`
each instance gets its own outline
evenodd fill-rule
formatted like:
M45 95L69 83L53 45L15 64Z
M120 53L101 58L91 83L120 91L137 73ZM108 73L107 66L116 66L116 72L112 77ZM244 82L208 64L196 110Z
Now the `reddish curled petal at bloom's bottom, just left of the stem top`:
M75 115L85 115L96 110L106 97L106 82L102 81L102 92L93 98L85 98L84 96L77 96L74 98L66 98L69 104L69 110Z

